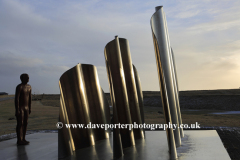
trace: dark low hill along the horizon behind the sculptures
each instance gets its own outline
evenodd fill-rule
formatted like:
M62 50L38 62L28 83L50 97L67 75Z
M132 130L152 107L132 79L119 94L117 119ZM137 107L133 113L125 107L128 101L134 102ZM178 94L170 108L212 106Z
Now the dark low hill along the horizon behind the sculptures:
M111 98L105 93L109 105ZM162 100L159 91L143 91L144 106L162 107ZM59 94L33 95L33 100L57 101L60 106ZM240 111L240 89L219 89L219 90L192 90L180 91L179 102L181 109L212 109ZM50 106L55 106L49 103Z

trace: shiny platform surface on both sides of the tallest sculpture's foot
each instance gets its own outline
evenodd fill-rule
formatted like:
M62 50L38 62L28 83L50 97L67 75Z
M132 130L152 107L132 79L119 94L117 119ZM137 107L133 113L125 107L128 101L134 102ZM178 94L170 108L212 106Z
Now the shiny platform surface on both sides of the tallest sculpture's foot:
M135 147L123 150L119 160L170 160L165 131L145 131L145 140L136 140ZM184 131L178 160L230 160L215 130Z

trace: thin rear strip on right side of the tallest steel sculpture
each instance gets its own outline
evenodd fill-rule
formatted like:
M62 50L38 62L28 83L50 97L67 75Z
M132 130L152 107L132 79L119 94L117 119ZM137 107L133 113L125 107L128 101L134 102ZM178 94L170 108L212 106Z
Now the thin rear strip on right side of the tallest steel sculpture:
M177 112L178 112L178 123L179 123L179 125L181 125L182 124L182 116L181 116L181 110L180 110L180 104L179 104L179 90L178 90L177 70L176 70L175 58L174 58L174 53L173 53L172 48L171 48L170 54L171 54L172 65L173 65L172 68L173 68L176 106L177 106ZM181 135L181 138L184 137L183 128L180 128L180 135Z

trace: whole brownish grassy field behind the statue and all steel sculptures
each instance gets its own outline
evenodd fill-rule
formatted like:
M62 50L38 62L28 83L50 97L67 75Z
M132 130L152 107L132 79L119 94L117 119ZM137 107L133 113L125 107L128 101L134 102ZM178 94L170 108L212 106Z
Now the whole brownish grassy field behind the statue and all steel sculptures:
M5 96L6 97L6 96ZM41 100L34 100L41 99ZM59 95L33 96L32 113L29 116L28 130L52 130L56 129L59 115ZM145 123L163 124L164 116L160 107L145 106ZM182 110L183 124L195 124L200 126L228 126L240 127L239 115L214 115L218 110ZM16 127L14 100L0 101L0 135L14 133ZM9 118L14 118L9 120Z

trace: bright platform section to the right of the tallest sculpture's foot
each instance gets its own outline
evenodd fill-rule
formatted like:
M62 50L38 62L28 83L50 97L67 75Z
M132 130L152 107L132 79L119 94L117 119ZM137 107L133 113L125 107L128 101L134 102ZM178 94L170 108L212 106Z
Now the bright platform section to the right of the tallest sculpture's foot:
M178 160L230 160L216 130L184 131Z

